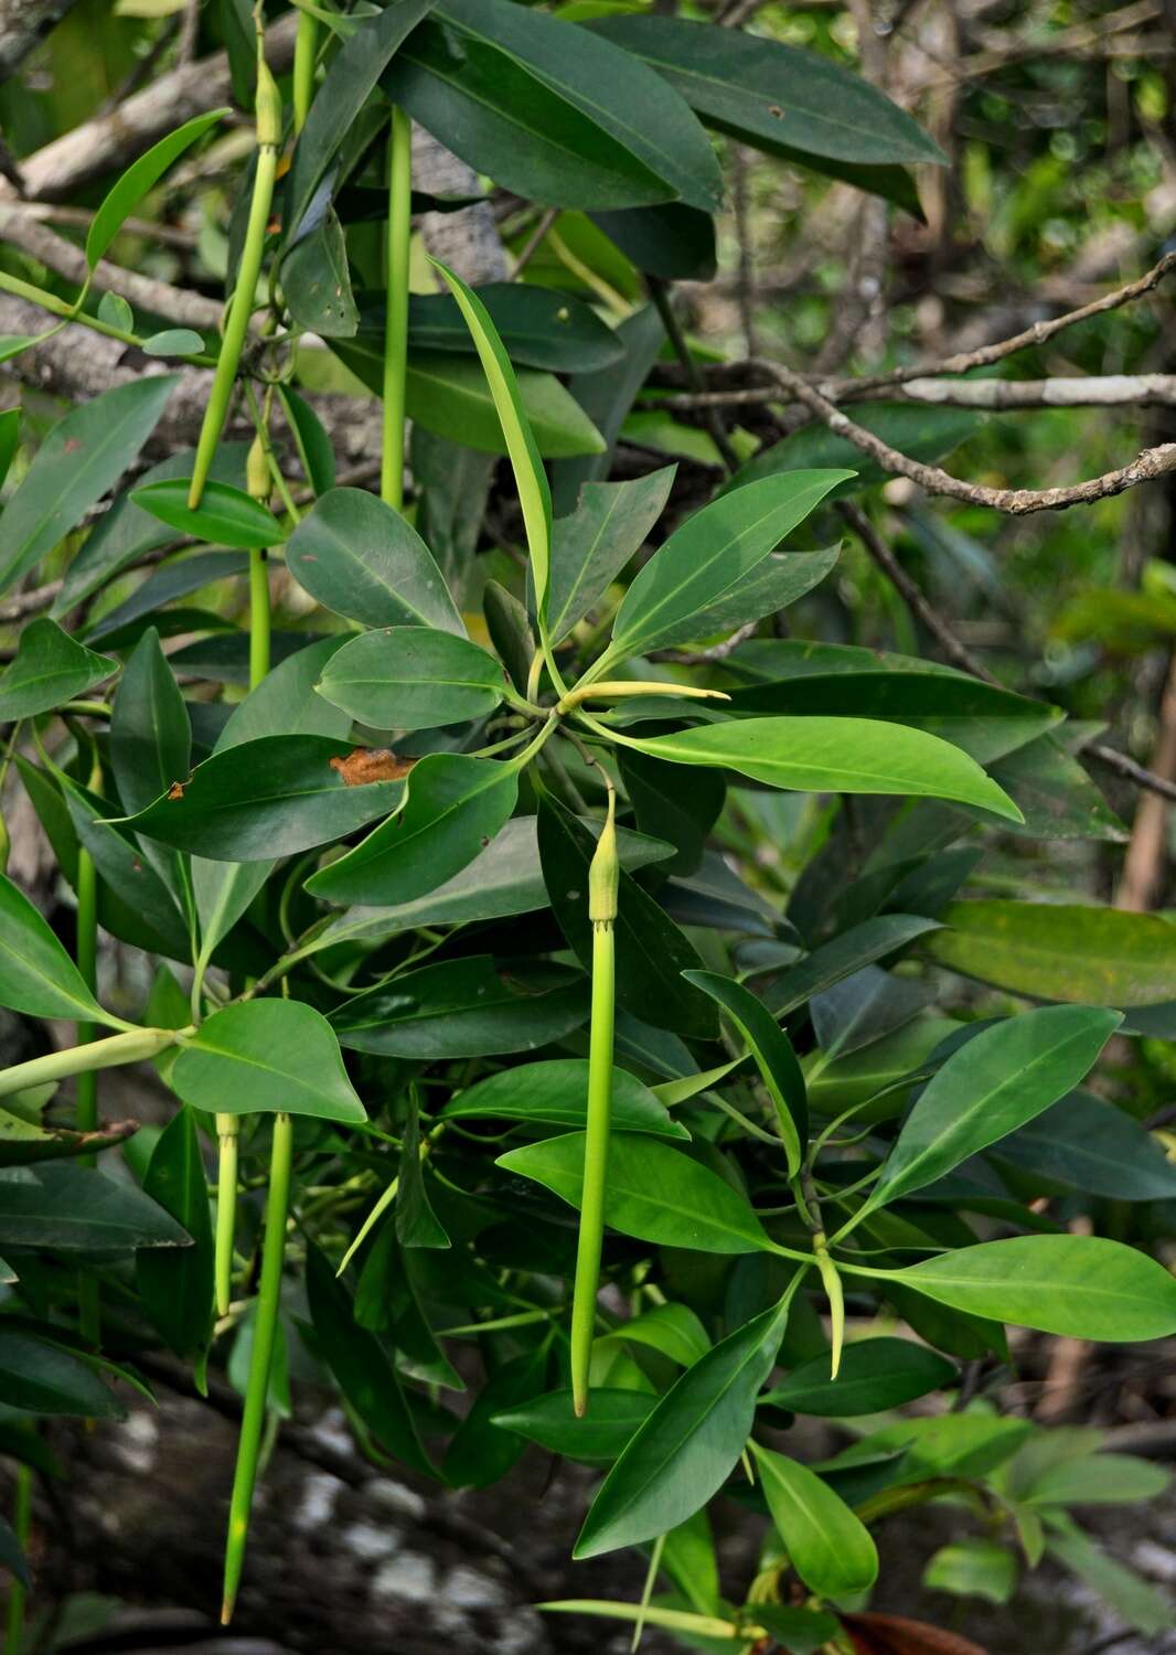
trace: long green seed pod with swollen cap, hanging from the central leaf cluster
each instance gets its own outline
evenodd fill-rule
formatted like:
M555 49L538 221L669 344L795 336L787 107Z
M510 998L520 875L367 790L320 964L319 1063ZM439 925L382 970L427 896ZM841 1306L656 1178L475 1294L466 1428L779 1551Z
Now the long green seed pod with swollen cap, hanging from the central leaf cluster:
M572 1407L587 1412L589 1367L595 1334L595 1294L600 1284L604 1243L604 1192L609 1177L609 1132L612 1125L612 1043L615 1019L614 923L620 864L615 828L617 796L609 786L609 814L589 866L589 919L592 920L592 1023L589 1036L587 1135L584 1139L584 1185L581 1230L576 1246L572 1291Z

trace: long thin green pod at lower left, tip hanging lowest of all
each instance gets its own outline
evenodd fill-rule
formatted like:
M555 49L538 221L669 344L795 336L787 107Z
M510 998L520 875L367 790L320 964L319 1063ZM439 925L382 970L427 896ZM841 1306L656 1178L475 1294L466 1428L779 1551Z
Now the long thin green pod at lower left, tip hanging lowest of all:
M241 1582L245 1541L250 1533L253 1486L258 1475L258 1451L270 1395L270 1365L281 1309L281 1268L286 1253L286 1215L289 1211L289 1168L294 1130L289 1115L273 1117L273 1150L270 1155L270 1193L265 1208L265 1243L261 1250L261 1283L258 1286L256 1321L250 1377L245 1390L245 1415L237 1445L233 1496L228 1506L228 1541L225 1544L225 1597L222 1625L233 1619L237 1589Z

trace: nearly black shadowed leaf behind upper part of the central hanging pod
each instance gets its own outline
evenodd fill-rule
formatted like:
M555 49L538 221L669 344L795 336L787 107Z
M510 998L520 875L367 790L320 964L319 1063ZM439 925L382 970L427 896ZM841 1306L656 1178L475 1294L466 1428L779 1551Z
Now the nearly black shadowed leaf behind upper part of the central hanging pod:
M587 968L592 922L587 917L587 871L595 851L589 829L554 799L539 801L539 859L559 928ZM693 945L642 887L620 872L615 932L617 996L633 1016L676 1034L711 1038L713 1003L683 985L681 973L701 967Z

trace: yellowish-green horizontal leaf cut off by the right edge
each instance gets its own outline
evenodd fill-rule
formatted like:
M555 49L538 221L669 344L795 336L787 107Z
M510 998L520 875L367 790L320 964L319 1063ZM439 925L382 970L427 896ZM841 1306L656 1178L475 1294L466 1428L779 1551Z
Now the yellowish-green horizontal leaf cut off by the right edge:
M1054 902L953 902L926 952L1035 1000L1148 1006L1176 1000L1176 925L1154 914Z

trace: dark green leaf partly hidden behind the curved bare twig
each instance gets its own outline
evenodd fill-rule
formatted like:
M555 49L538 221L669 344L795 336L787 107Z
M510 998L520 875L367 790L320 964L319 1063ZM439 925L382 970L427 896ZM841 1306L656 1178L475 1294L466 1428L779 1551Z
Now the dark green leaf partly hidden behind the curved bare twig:
M961 442L968 442L986 420L986 414L973 409L918 407L911 402L867 402L853 409L857 425L925 465L935 465ZM834 500L862 493L863 488L885 483L893 475L878 460L862 453L847 437L837 437L827 425L812 424L784 437L782 442L761 449L754 460L739 467L728 488L739 488L761 477L776 477L779 472L824 465L852 467L855 473L834 490Z

